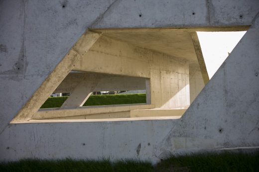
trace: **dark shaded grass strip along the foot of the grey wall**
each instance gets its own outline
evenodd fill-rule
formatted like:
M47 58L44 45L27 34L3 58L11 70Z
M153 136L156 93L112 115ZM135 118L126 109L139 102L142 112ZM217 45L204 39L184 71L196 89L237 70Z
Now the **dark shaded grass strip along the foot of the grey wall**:
M0 172L259 172L259 154L172 156L155 167L149 162L109 160L21 160L0 163Z

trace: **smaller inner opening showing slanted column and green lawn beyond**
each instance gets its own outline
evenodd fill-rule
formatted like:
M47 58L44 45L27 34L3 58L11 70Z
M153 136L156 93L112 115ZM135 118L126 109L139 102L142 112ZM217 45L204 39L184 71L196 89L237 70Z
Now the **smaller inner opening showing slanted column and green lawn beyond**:
M146 84L148 83L148 78L72 71L45 101L40 110L146 104Z

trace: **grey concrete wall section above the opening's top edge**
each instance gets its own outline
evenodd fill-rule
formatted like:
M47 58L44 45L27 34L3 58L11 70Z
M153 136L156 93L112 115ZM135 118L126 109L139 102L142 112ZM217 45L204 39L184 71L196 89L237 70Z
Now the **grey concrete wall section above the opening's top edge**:
M258 0L117 0L92 27L251 25L258 6Z

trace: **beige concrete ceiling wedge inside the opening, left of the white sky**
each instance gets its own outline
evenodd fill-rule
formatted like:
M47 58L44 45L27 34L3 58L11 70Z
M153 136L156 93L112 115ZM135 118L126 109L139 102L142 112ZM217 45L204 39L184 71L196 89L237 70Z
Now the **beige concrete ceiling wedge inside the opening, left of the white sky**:
M95 30L103 36L121 40L137 47L164 53L198 63L189 30L176 29L113 29Z

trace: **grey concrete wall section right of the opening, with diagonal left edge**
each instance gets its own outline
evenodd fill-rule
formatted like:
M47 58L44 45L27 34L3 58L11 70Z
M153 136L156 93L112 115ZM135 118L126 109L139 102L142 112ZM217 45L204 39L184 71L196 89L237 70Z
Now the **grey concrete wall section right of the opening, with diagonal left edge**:
M160 156L259 149L259 17L161 142Z

